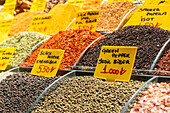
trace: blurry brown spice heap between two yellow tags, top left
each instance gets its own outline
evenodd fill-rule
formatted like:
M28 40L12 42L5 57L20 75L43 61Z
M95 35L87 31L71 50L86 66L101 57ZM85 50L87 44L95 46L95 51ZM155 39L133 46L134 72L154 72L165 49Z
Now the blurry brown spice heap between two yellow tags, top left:
M14 15L22 12L28 12L31 8L33 0L17 0Z

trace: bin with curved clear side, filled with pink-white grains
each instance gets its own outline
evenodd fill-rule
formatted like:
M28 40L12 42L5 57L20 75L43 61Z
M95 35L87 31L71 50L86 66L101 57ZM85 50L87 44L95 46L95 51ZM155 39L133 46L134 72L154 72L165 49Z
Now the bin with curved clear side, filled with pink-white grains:
M170 77L154 76L127 102L121 113L157 112L169 113Z

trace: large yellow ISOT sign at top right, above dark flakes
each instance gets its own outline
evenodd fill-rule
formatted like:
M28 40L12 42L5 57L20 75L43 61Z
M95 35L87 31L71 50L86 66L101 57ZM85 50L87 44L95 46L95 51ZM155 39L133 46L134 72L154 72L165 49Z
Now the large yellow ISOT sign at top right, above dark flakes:
M169 17L169 6L139 6L125 26L149 25L170 30Z

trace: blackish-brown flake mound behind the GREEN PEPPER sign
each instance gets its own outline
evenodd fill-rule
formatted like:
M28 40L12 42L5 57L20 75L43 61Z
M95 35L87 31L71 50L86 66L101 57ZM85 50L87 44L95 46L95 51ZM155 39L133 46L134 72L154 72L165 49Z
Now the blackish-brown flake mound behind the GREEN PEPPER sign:
M151 26L127 26L100 40L83 56L79 66L97 65L102 46L137 46L134 69L150 69L170 32Z

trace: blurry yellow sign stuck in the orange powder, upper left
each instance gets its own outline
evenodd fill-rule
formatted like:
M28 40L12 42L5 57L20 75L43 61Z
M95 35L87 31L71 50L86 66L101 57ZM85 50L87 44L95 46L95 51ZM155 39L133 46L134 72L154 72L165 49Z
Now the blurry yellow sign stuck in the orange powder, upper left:
M34 16L29 27L29 32L48 34L51 26L51 15Z

